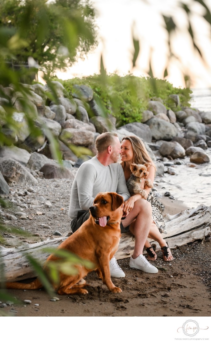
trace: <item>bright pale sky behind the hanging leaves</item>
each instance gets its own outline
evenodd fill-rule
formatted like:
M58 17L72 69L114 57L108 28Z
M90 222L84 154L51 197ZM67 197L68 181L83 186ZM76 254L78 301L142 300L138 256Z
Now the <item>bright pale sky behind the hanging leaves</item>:
M194 3L193 0L184 2ZM205 0L211 8L211 0ZM211 87L211 29L202 20L202 6L194 4L192 25L197 32L198 44L205 53L205 63L201 63L194 53L193 44L184 34L187 27L185 12L179 8L177 0L92 0L96 9L99 27L99 44L94 52L75 63L66 73L57 73L61 79L82 77L100 72L100 57L107 73L123 76L130 71L135 76L147 76L149 56L155 77L162 78L168 62L167 32L162 28L160 13L172 15L180 32L174 37L172 49L177 58L168 67L167 80L175 87L185 87L182 72L190 72L192 88ZM140 41L140 54L136 67L132 68L132 27L135 38Z

